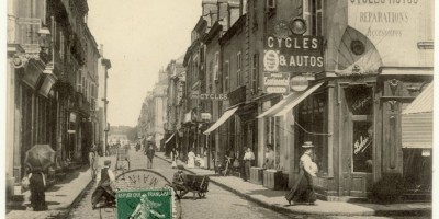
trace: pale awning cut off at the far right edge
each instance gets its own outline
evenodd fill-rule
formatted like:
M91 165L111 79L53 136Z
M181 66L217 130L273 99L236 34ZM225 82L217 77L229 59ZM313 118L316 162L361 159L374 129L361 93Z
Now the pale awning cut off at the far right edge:
M403 148L432 148L432 82L402 113Z

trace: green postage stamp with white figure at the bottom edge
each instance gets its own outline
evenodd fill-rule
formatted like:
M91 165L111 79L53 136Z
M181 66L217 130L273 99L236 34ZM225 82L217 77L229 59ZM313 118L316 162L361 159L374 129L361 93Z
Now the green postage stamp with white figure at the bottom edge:
M116 195L117 218L175 218L173 191L169 187L121 191Z

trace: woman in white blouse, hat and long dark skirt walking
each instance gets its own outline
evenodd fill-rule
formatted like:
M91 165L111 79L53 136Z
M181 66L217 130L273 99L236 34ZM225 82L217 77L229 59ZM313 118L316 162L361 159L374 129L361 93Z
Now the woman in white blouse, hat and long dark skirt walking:
M290 203L314 205L317 199L313 188L313 177L315 170L313 170L313 161L311 159L313 153L313 143L306 141L302 148L305 150L299 162L299 177L295 185L285 195L286 200Z

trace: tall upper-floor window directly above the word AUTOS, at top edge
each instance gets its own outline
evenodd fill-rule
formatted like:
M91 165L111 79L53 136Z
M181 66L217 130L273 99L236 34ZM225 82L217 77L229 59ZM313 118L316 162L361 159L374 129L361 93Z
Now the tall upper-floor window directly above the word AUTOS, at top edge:
M323 35L323 0L303 0L303 18L308 27L306 35Z

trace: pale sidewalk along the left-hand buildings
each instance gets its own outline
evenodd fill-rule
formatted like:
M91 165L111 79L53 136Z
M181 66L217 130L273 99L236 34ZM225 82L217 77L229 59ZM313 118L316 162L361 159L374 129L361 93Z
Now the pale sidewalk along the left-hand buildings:
M103 160L112 161L112 169L115 165L115 157L101 157L99 159L99 165L102 166ZM33 211L30 203L31 192L26 191L23 193L25 210L8 210L8 219L35 219L35 218L64 218L68 214L69 208L72 204L82 197L82 192L91 183L91 172L88 165L83 165L81 169L67 173L66 178L58 181L46 191L46 204L48 210L46 211ZM90 203L91 205L91 203Z

